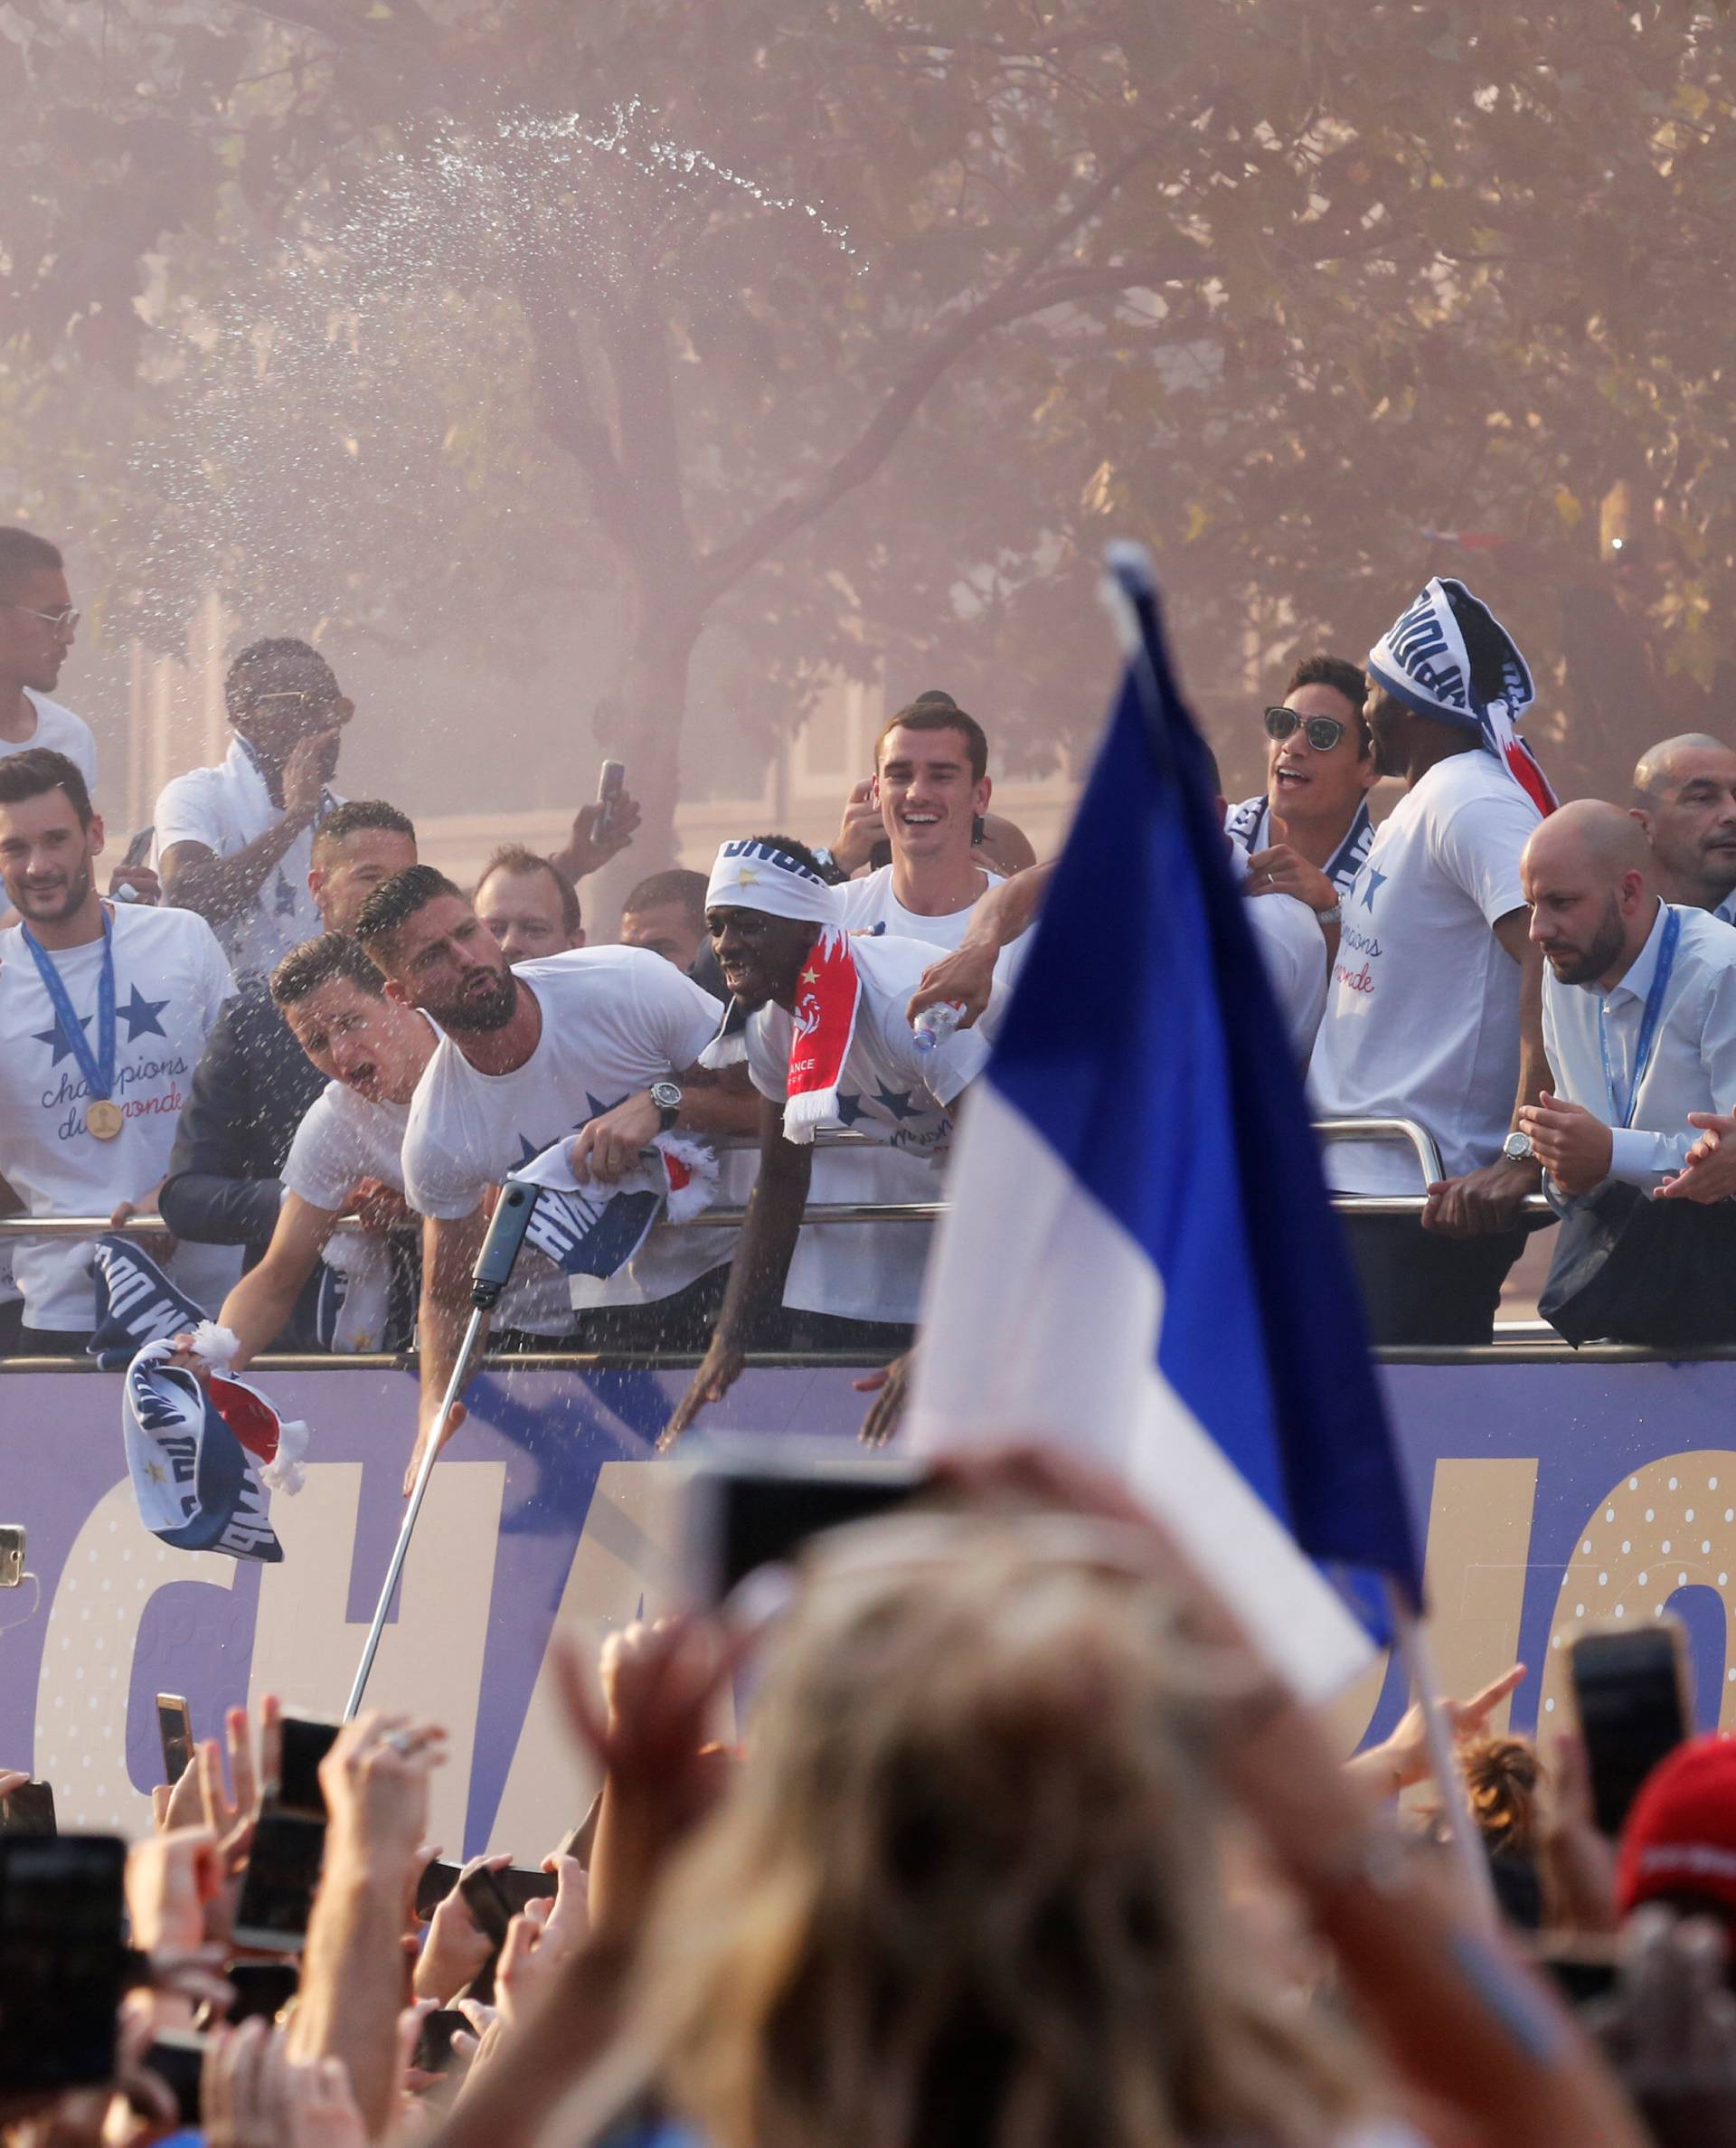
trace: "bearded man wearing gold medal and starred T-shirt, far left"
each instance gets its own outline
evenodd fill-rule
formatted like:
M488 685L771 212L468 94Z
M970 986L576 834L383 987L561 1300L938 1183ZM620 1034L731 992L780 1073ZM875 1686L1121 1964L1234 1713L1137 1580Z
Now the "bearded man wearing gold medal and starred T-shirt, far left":
M191 911L97 894L103 823L77 765L49 748L0 760L0 879L19 921L0 932L0 1175L30 1216L148 1209L191 1070L234 990ZM178 1248L174 1280L217 1304L228 1248ZM97 1321L90 1246L21 1239L21 1351L73 1355Z

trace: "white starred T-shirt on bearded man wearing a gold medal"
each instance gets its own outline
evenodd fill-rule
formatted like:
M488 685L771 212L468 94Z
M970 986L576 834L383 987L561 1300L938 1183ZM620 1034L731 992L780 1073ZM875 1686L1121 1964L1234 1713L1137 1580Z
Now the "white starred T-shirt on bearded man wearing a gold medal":
M168 1171L180 1106L204 1042L234 990L211 926L191 911L118 902L114 921L114 1141L86 1130L79 1074L24 928L0 932L0 1175L30 1216L107 1216L148 1194ZM92 1053L101 939L49 954ZM17 1239L15 1274L30 1327L88 1330L97 1319L86 1239ZM234 1246L180 1246L170 1274L215 1315L241 1269Z

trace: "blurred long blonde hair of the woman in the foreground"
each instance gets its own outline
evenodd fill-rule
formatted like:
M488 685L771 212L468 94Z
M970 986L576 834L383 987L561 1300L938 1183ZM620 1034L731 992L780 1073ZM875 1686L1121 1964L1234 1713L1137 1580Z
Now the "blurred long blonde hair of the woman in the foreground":
M1336 2137L1349 2058L1223 1901L1233 1699L1162 1590L1033 1557L1016 1519L844 1532L664 1886L627 2043L713 2148Z

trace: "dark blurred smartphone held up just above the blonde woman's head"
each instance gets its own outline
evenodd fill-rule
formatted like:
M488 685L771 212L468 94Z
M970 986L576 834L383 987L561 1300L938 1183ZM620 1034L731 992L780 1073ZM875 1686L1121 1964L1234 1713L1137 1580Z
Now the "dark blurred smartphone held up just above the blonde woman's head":
M784 1564L821 1529L902 1506L928 1482L905 1454L862 1454L831 1439L713 1439L685 1493L688 1557L707 1602L758 1566Z

